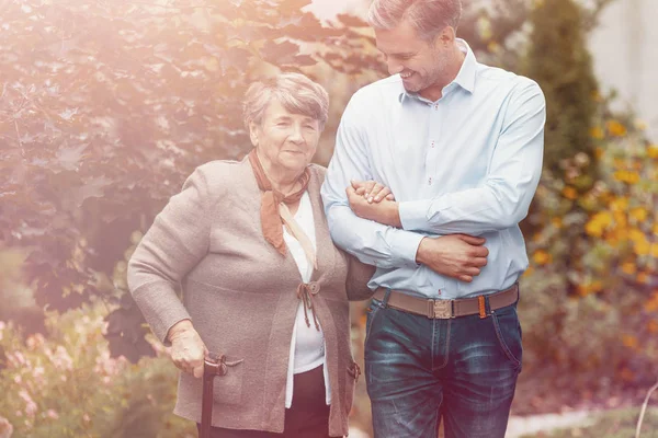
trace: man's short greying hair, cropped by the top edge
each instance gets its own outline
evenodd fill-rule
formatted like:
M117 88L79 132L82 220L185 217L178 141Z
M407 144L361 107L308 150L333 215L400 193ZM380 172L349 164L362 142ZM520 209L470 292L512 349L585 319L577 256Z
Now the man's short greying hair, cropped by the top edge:
M455 31L462 18L462 0L373 0L367 22L374 28L392 30L409 20L418 35L434 41L445 26Z

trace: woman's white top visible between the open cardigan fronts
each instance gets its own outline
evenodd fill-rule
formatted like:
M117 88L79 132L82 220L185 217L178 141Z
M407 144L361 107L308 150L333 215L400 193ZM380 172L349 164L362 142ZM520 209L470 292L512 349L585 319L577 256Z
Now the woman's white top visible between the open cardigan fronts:
M313 206L310 204L308 192L304 193L302 199L299 199L299 208L295 214L295 221L297 221L302 230L304 230L310 240L314 251L317 251ZM304 249L299 242L285 230L285 227L283 227L283 240L285 241L291 255L299 268L302 280L304 283L308 283L313 275L314 268L313 265L308 263L306 254L304 253ZM320 365L325 365L325 390L327 404L331 403L329 377L325 360L325 334L322 333L321 327L319 332L316 328L310 309L307 309L310 327L306 325L303 306L303 302L299 301L299 304L297 306L297 318L295 319L295 326L293 328L285 391L285 407L291 407L293 404L294 374L309 371L319 367Z

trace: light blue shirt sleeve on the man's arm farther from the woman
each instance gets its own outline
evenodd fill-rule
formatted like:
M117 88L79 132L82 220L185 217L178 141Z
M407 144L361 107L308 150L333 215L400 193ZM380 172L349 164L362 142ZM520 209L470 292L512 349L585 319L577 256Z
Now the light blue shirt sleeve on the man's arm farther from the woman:
M485 183L433 199L399 204L405 230L478 235L521 222L542 174L546 102L527 82L511 96Z

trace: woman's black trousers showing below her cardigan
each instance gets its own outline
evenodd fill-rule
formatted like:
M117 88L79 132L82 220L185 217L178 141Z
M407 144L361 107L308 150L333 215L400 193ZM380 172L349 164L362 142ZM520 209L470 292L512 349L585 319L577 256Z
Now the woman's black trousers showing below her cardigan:
M285 410L283 434L213 427L212 438L329 438L329 406L325 395L324 368L295 374L293 404ZM196 427L201 430L201 425Z

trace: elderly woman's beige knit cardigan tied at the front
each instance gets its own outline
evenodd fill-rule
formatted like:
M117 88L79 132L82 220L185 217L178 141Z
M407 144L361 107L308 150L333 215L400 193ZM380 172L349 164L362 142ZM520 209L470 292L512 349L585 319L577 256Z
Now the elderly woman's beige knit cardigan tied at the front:
M372 296L366 283L374 268L331 242L320 199L325 171L310 166L318 268L309 286L318 291L316 314L327 346L329 435L338 437L348 434L355 382L348 300ZM215 379L213 426L281 433L302 277L292 255L264 240L260 198L247 160L197 168L137 246L128 286L161 342L172 325L191 319L211 353L238 362ZM181 373L175 414L201 422L201 383Z

